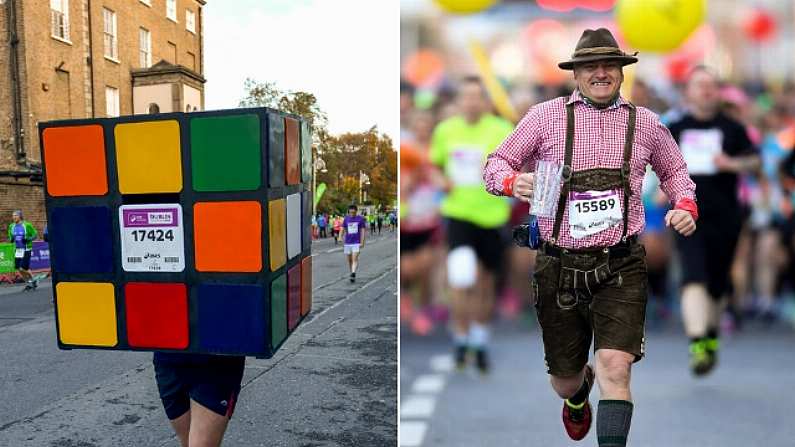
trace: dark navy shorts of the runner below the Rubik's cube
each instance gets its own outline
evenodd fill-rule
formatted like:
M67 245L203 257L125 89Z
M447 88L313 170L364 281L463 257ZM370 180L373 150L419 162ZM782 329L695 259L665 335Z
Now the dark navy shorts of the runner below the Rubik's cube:
M193 399L226 417L235 411L245 357L155 353L155 379L169 419L190 409Z

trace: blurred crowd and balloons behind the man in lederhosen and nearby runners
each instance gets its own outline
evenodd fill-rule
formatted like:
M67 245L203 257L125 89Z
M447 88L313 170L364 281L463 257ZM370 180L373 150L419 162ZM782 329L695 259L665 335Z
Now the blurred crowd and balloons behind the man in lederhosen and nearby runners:
M490 98L483 112L515 124L534 104L571 94L571 73L560 70L557 63L569 58L584 29L599 27L611 30L622 49L639 52L640 63L624 69L622 95L660 114L663 122L686 110L683 85L693 67L706 65L717 73L720 107L746 126L763 160L758 172L742 177L736 191L745 221L721 326L728 334L748 324L795 327L795 2L626 5L632 3L401 1L401 322L405 328L428 334L443 328L449 316L445 221L439 213L449 184L431 163L429 151L437 124L462 113L461 80L477 75ZM654 328L679 320L681 267L671 230L663 225L668 200L653 173L644 182L643 199L642 240L653 295L647 324ZM535 254L510 243L511 228L526 223L529 210L527 204L513 200L511 207L510 221L502 231L505 268L498 275L496 314L529 319L533 318L529 276Z

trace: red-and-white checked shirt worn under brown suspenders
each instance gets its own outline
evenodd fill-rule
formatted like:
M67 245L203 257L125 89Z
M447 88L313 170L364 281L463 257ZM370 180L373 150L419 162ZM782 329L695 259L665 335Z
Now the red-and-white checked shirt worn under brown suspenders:
M513 133L489 155L483 179L490 193L503 194L503 180L519 172L527 162L547 160L563 164L566 141L565 105L570 102L575 103L572 169L582 171L593 168L621 168L629 103L619 97L616 104L606 109L597 109L585 103L579 90L575 90L569 98L556 98L530 109ZM684 198L695 200L696 186L688 176L679 147L657 115L644 107L637 107L635 142L630 165L632 196L629 199L628 235L640 233L645 226L641 187L646 165L651 165L657 173L660 188L668 195L672 204ZM620 188L618 194L623 206L624 192ZM607 247L621 240L622 223L582 239L572 238L569 231L568 202L567 200L556 245L573 249ZM541 237L550 240L555 218L539 217L538 223Z

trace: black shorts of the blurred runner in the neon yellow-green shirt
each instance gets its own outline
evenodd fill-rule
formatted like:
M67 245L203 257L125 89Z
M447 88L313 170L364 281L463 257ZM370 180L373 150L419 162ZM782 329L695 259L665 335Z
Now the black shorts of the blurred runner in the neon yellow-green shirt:
M497 272L502 266L505 244L499 229L481 228L467 221L448 219L447 244L450 250L463 246L472 247L480 262L489 271Z

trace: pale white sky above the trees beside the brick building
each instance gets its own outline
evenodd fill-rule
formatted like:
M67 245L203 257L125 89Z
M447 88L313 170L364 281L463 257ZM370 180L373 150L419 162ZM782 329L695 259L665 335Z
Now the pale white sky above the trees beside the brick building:
M235 108L247 77L313 93L334 134L399 135L398 0L207 0L205 109Z

